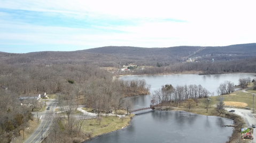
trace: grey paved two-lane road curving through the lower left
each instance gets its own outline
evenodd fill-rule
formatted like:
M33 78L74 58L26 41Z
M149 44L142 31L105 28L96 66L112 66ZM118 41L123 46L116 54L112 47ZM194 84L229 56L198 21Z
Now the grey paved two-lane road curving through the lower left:
M47 132L50 127L52 115L54 113L54 110L57 106L57 100L55 99L49 99L48 102L46 102L46 107L50 107L50 110L45 110L44 112L39 113L38 117L41 117L41 123L39 127L34 131L34 133L24 141L24 143L34 143L34 142L40 142L42 139L42 133L43 137L47 136ZM36 112L33 112L35 118L37 118Z

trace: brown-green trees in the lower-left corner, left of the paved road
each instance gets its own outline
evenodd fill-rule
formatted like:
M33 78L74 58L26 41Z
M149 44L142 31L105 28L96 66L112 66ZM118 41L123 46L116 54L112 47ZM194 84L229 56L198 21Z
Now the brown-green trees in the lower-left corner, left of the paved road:
M11 142L25 130L28 120L33 120L33 115L27 106L20 106L17 94L0 88L0 142Z

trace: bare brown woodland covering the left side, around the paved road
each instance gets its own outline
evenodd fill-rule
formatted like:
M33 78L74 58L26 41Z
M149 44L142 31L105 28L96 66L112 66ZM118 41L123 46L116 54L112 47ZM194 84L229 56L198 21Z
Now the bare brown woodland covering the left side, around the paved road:
M57 94L58 106L67 116L69 128L65 129L72 133L77 131L73 114L79 104L96 109L98 114L117 111L126 108L124 97L149 94L150 90L145 80L118 80L112 73L94 65L0 63L0 66L0 142L10 142L20 135L19 131L26 127L28 120L33 120L31 112L37 101L33 99L21 106L19 97L42 92L49 96Z

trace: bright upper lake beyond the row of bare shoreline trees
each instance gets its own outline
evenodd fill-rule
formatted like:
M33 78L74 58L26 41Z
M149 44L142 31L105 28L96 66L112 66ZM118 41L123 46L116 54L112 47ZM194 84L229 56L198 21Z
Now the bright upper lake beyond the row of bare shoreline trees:
M220 83L228 80L238 85L240 78L256 79L255 73L234 73L234 74L215 74L215 75L197 75L197 74L171 74L171 75L131 75L120 77L123 80L145 79L146 83L151 85L151 91L161 88L162 85L171 84L176 87L188 85L201 85L214 95Z

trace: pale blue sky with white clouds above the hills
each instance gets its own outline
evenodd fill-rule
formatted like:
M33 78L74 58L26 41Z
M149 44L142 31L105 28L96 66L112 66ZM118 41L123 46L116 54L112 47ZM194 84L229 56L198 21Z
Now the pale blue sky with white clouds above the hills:
M256 1L0 0L0 51L256 42Z

